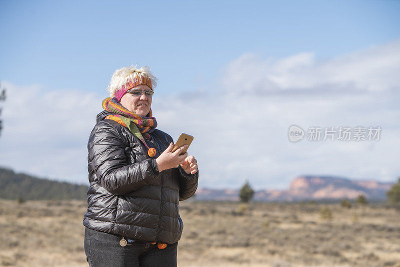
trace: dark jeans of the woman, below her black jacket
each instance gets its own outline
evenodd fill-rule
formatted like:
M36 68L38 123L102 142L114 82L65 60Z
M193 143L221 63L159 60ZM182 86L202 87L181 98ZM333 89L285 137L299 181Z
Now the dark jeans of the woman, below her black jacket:
M119 235L85 227L84 252L89 266L176 267L178 242L159 249L157 244L147 246L145 242L139 240L121 246L119 245L121 239Z

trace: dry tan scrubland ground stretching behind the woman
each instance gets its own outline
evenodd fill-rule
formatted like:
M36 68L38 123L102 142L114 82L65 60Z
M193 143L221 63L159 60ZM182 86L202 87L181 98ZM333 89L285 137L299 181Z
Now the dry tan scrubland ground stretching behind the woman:
M186 200L179 210L178 266L400 267L400 206ZM0 199L0 265L88 266L85 211L84 200Z

